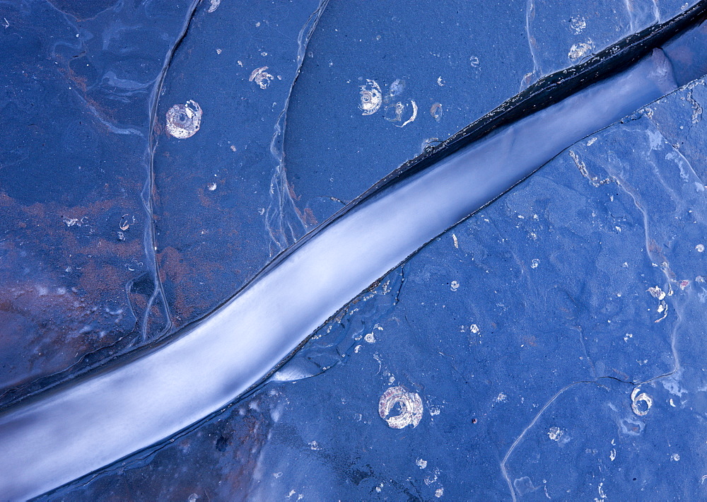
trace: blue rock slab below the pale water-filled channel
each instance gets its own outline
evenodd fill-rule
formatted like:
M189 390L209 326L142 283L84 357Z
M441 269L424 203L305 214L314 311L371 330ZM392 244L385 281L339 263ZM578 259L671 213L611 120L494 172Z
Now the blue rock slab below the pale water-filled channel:
M269 440L230 496L701 498L706 163L682 145L705 134L687 99L704 89L571 146L356 298L254 395L148 466L58 498L105 496L108 479L171 490L160 466L202 448L221 465L218 438L245 410ZM379 416L398 386L423 403L414 428ZM223 474L197 472L177 484L226 493Z

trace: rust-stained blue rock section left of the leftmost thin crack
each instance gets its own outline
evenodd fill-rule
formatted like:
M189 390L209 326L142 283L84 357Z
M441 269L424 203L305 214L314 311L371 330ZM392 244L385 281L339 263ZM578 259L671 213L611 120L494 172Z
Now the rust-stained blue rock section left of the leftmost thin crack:
M169 326L151 109L192 4L64 4L0 7L2 404Z

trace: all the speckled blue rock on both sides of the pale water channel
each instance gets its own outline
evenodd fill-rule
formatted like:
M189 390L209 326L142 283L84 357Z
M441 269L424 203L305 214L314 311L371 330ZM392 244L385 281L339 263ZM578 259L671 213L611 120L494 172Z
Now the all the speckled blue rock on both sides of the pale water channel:
M3 403L198 319L425 145L684 8L654 6L2 7ZM257 391L45 498L704 498L706 96L568 148ZM396 388L414 414L382 418Z

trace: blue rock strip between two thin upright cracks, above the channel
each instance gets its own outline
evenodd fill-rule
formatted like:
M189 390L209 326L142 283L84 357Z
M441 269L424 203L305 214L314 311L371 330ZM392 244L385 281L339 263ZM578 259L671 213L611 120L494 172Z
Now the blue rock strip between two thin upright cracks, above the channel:
M276 192L279 131L319 2L202 4L175 53L157 110L153 197L160 279L175 327L209 313L301 235ZM196 102L187 139L165 116Z

